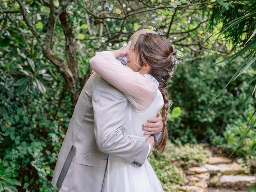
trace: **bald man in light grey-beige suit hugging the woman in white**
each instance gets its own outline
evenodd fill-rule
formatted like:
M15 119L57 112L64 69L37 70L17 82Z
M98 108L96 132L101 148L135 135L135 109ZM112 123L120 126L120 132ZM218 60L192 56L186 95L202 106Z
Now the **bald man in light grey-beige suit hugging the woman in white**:
M146 32L155 33L151 30L134 33L130 38L132 46ZM118 59L124 64L124 60ZM78 98L54 169L52 185L57 185L59 192L101 192L108 154L138 168L144 164L154 138L140 141L122 132L127 106L128 100L122 92L98 74L92 74ZM151 123L143 127L148 131L144 134L160 132L161 116L151 118Z

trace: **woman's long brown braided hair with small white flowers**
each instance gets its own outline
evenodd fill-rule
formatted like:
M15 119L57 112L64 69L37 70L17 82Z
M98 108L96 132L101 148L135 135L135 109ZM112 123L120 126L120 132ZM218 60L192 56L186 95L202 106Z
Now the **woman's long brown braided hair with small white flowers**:
M173 68L176 64L176 50L170 40L158 34L145 33L140 34L134 51L138 56L138 63L140 66L147 63L151 67L150 75L152 75L158 82L158 89L162 93L164 99L164 106L162 108L163 132L159 142L155 142L158 154L161 154L166 146L168 140L167 131L167 111L169 108L169 99L167 92L167 82L173 74Z

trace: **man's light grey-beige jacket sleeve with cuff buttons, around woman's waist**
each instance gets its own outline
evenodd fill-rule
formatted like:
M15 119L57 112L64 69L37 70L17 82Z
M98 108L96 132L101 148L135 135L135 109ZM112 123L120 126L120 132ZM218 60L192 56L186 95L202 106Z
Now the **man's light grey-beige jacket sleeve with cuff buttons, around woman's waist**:
M148 142L136 140L122 132L128 101L122 92L102 82L97 84L92 94L98 149L140 167L148 156Z

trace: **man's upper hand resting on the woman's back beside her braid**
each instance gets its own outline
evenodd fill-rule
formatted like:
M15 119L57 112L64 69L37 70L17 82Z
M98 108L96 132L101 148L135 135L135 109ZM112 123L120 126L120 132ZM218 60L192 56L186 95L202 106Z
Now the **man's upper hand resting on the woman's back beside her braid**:
M149 118L148 123L144 123L142 125L142 130L145 131L144 135L151 135L161 132L163 130L161 114L158 112L155 118Z

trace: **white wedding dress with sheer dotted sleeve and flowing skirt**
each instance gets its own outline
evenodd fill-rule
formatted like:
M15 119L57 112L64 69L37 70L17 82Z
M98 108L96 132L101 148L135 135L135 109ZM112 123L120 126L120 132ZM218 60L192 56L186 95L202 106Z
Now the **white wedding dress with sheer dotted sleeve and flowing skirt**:
M142 124L156 116L164 104L158 82L149 74L141 75L123 66L110 51L96 52L92 69L122 91L129 100L122 132L145 141ZM122 158L109 155L102 192L163 192L160 181L146 159L136 167Z

